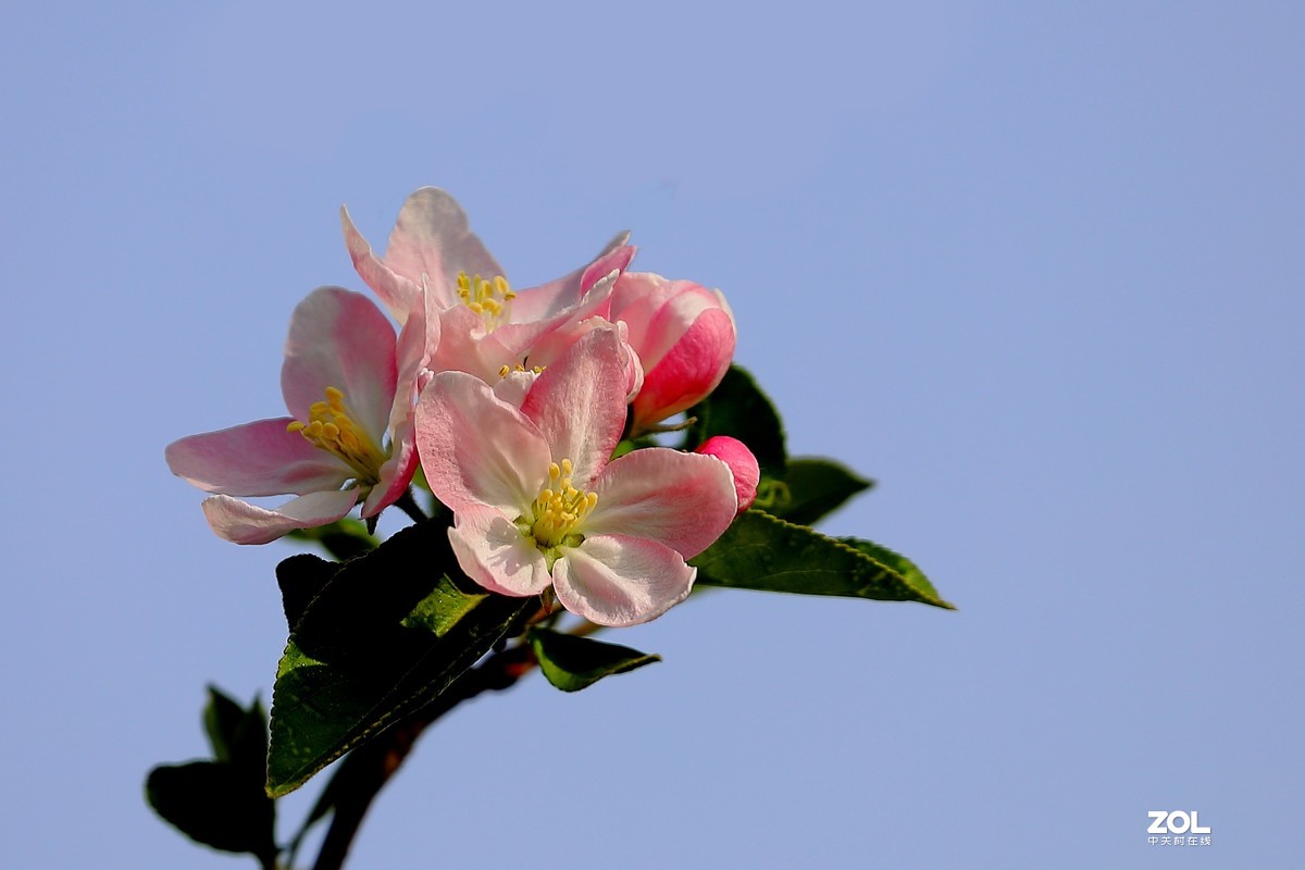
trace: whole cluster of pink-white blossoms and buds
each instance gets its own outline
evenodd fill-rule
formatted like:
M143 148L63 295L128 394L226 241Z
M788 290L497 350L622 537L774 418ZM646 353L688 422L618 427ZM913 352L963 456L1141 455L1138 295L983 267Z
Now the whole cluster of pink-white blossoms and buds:
M600 625L683 600L685 560L756 496L757 462L732 438L696 453L617 445L656 432L715 389L735 321L724 297L629 271L615 239L592 262L514 291L448 193L423 188L384 256L341 210L367 296L322 287L291 317L281 373L288 416L167 447L174 473L213 493L209 524L239 544L373 520L418 463L453 511L462 570L513 596L548 590ZM245 498L295 496L268 509Z

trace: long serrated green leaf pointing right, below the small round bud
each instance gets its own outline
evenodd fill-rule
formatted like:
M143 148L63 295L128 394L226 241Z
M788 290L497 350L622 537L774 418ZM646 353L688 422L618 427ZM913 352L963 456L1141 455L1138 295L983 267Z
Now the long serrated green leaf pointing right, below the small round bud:
M955 609L938 597L919 569L903 574L868 549L757 509L740 515L715 544L689 562L698 566L697 582L705 586L920 601Z

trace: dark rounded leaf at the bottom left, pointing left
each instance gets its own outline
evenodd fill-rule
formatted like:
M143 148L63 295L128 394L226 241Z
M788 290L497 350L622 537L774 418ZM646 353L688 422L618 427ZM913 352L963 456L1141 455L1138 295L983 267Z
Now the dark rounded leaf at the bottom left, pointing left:
M145 797L192 840L223 852L249 852L271 866L275 806L261 776L221 762L162 764L145 780Z

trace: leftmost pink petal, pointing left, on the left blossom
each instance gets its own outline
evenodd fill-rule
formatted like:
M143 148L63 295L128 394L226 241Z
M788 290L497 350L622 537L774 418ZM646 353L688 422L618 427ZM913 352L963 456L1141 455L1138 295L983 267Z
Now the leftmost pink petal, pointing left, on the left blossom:
M354 471L298 432L290 417L257 420L174 441L168 468L200 489L228 496L304 494L339 489Z

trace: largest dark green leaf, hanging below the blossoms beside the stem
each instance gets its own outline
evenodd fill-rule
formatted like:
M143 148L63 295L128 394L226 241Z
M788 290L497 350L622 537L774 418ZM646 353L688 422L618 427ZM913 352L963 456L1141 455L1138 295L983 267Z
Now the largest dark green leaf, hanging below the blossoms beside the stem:
M282 587L318 583L330 566L286 560ZM304 577L299 577L299 574ZM467 591L448 528L406 528L334 569L303 610L277 670L268 793L308 777L440 695L539 599Z

